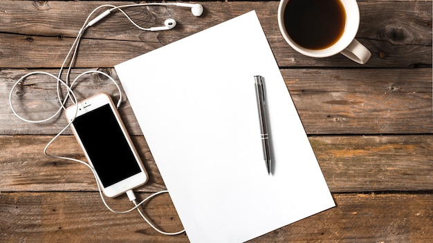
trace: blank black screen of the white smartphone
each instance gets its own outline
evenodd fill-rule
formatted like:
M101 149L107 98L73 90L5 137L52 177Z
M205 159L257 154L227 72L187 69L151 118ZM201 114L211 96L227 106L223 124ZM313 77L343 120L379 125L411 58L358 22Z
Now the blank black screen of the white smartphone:
M140 167L108 104L76 117L73 126L104 187L140 173Z

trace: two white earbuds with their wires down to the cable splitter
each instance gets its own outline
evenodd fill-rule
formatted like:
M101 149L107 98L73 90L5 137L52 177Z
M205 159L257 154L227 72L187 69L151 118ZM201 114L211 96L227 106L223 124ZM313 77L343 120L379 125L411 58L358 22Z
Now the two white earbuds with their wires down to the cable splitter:
M89 21L86 28L93 26L95 23L98 23L101 19L104 19L104 17L107 17L113 10L119 10L125 16L129 21L131 21L137 28L140 28L141 30L148 30L148 31L160 31L160 30L171 30L176 26L176 20L174 19L167 19L164 21L164 26L158 26L158 27L151 27L151 28L142 28L138 26L136 23L132 21L132 19L129 18L129 16L126 14L125 11L122 10L122 8L128 8L128 7L138 7L138 6L178 6L183 8L191 8L191 12L194 16L199 17L201 14L203 14L203 6L201 6L199 3L137 3L137 4L129 4L129 5L123 5L123 6L113 6L113 8L106 10L105 12L102 12L102 14L99 14L98 17L95 17L95 19Z

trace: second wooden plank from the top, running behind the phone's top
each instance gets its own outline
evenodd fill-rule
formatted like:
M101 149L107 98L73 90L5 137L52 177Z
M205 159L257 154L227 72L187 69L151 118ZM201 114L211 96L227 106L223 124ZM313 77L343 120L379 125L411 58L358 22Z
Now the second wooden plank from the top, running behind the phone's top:
M100 70L117 80L113 68ZM0 70L0 97L8 97L13 84L30 71ZM73 69L71 78L83 71ZM308 135L433 133L430 68L281 71ZM79 99L102 91L118 98L116 87L102 75L88 75L75 88ZM35 75L14 90L12 104L27 119L43 119L59 108L56 97L55 80ZM141 135L129 102L124 101L120 113L129 133ZM0 135L56 134L66 120L60 116L53 122L28 124L6 103L0 106L0 124Z

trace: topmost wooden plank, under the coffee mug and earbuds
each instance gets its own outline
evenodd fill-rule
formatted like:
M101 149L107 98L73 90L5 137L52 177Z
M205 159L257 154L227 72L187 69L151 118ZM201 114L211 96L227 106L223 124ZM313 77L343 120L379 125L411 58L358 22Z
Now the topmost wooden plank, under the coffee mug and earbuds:
M62 64L86 15L98 1L1 1L0 66L55 68ZM115 5L125 2L107 2ZM359 1L361 23L357 38L371 50L360 66L342 55L325 59L304 57L284 41L277 25L275 1L203 2L205 13L194 17L176 7L131 11L146 26L159 26L168 17L178 26L165 32L142 32L119 12L89 29L80 46L76 66L112 67L167 43L250 10L256 10L279 66L417 67L432 66L432 1ZM380 14L378 14L380 12ZM28 16L34 20L29 23ZM10 28L13 25L14 28ZM103 47L103 48L102 48ZM85 55L84 55L85 54Z

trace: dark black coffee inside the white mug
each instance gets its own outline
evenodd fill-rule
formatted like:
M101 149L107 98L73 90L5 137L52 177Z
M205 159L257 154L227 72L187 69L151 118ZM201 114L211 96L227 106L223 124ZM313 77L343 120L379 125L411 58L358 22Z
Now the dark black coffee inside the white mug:
M284 25L298 45L320 50L340 39L346 26L346 12L340 0L289 0Z

